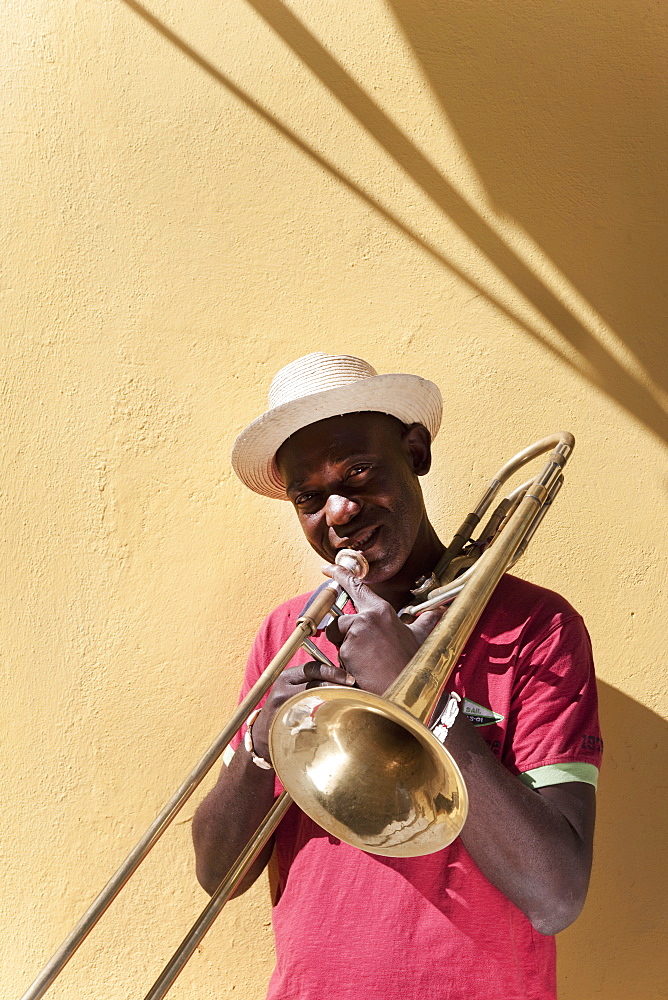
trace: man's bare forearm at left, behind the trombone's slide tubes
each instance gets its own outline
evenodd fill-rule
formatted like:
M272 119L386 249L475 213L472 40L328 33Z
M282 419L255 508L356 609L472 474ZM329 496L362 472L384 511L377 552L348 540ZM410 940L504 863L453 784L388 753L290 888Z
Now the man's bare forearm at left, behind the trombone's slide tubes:
M208 893L222 882L271 808L275 777L273 771L253 764L242 744L198 807L192 824L196 870L200 885ZM270 841L235 895L253 884L266 866L271 848Z

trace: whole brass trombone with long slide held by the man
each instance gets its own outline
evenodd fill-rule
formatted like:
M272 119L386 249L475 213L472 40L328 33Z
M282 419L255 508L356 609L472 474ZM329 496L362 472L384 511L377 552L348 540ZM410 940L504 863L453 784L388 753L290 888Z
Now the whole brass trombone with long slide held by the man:
M468 796L459 768L435 735L443 692L496 585L523 554L559 492L574 444L568 432L553 434L498 470L455 532L434 573L413 591L416 602L400 612L404 621L414 621L425 611L451 605L383 697L332 686L304 691L281 706L270 730L270 752L286 791L276 799L145 1000L161 1000L167 994L293 801L333 836L371 853L429 854L458 836L466 820ZM474 540L473 533L501 486L527 462L548 451L541 471L501 500ZM365 575L365 561L358 552L343 550L337 562L358 576ZM304 646L311 655L322 655L311 637L327 615L342 613L347 600L334 581L316 592L292 635L230 721L21 1000L44 996L297 650Z

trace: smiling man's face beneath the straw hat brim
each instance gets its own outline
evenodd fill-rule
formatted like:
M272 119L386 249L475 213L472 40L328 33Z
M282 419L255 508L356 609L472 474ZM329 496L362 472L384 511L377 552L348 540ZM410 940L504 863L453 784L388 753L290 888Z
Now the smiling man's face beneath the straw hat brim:
M369 583L391 580L426 518L418 475L429 434L381 413L350 413L302 428L279 449L278 469L309 544L327 562L361 550Z

